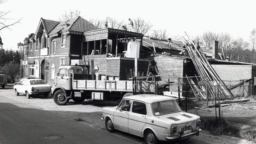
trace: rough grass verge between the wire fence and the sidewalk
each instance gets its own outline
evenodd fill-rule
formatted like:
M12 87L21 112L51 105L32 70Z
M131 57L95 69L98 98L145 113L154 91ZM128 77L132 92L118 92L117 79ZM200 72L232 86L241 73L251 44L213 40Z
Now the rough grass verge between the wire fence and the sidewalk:
M201 129L216 135L225 134L256 142L255 126L227 123L223 118L216 121L215 117L201 117Z

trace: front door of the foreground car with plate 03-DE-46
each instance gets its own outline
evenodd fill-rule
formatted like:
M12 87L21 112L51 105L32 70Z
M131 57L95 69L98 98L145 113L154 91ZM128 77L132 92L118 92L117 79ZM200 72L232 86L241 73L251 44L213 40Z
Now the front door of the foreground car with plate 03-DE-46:
M122 100L114 113L114 127L125 132L128 131L128 117L131 109L132 100Z

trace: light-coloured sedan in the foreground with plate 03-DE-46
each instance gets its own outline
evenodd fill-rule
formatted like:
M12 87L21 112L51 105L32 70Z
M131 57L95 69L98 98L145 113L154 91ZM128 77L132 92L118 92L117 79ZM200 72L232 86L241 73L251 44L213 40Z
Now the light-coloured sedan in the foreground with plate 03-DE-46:
M119 130L144 137L148 144L185 140L199 135L199 116L183 112L168 96L141 94L124 97L118 107L102 108L109 132Z

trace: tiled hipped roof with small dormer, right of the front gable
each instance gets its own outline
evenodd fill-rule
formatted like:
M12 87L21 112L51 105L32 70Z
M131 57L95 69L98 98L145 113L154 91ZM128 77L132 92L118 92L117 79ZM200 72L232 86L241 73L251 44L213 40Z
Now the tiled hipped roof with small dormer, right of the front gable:
M62 26L67 25L63 30ZM83 34L85 31L98 29L87 20L84 20L80 16L71 18L69 20L61 21L49 34L50 37L58 36L60 32L62 33L74 33L74 34Z

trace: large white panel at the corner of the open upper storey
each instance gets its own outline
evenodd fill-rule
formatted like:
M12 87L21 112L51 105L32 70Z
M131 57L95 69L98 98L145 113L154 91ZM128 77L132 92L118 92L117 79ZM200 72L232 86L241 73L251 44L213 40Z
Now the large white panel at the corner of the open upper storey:
M139 58L140 56L140 43L130 41L127 44L127 51L124 51L126 58Z

